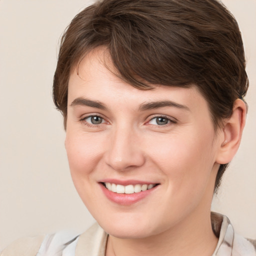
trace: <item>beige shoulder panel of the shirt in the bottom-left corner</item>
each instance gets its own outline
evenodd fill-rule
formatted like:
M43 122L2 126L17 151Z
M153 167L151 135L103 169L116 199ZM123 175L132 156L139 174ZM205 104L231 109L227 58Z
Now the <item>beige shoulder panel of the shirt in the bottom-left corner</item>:
M35 256L45 235L19 238L8 245L0 256Z

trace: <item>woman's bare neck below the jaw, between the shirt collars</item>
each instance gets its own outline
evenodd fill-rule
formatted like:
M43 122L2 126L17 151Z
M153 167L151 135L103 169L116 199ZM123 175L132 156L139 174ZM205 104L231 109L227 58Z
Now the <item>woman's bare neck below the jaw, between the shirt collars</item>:
M145 238L122 239L109 235L106 256L210 256L217 238L211 228L210 211L205 213L195 212L182 223Z

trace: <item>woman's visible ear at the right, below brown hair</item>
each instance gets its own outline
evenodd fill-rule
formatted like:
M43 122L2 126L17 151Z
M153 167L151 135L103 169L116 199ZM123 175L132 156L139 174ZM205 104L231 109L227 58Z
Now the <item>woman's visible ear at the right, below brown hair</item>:
M232 160L235 155L245 125L246 105L241 99L236 99L233 104L233 111L230 118L224 120L224 126L219 134L219 150L216 162L225 164Z

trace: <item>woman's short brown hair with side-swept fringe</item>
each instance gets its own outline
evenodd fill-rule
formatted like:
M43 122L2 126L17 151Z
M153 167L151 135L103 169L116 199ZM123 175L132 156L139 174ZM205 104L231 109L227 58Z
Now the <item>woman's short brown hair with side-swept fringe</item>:
M53 100L64 126L71 69L98 46L109 51L116 75L134 87L195 85L215 129L247 91L239 27L219 1L101 0L78 13L61 38ZM226 167L219 167L215 190Z

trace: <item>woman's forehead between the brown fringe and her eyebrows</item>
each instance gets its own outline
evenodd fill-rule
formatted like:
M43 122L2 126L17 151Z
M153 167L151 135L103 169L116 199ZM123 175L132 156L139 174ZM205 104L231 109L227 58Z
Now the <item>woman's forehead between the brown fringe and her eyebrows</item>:
M145 102L172 101L183 108L205 108L206 100L196 86L189 88L152 85L152 89L142 90L126 83L111 62L108 51L96 48L90 51L74 68L68 82L68 105L77 98L103 101L118 108L121 106L138 108Z

